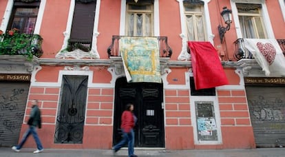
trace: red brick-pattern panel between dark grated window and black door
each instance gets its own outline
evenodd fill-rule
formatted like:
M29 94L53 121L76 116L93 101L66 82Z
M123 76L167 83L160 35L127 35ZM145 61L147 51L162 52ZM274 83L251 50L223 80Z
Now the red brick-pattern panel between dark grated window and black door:
M113 88L88 90L86 125L112 125L114 109Z

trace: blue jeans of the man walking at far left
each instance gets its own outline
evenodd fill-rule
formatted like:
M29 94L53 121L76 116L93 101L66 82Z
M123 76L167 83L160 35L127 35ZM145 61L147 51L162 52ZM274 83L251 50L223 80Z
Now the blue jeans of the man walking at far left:
M17 145L17 149L21 149L21 147L23 147L23 145L25 144L25 141L28 139L30 134L32 134L32 136L34 136L34 140L36 141L36 147L39 150L43 149L43 146L41 145L41 140L39 140L39 136L38 136L38 134L36 134L36 127L34 127L34 126L30 126L29 129L25 132L25 134L23 135L23 138L21 140L21 143L19 143L19 145Z

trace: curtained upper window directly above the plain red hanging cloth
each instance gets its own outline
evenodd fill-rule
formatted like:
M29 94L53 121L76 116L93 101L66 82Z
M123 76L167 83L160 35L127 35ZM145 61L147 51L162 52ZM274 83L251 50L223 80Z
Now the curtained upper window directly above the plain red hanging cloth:
M188 41L206 41L204 25L204 7L184 3L184 14Z

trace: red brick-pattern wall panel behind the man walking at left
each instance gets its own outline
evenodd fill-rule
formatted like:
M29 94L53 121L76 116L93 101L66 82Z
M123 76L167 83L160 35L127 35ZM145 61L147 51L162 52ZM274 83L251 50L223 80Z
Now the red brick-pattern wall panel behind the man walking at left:
M32 100L39 100L41 109L41 118L43 124L55 124L56 112L59 101L59 87L30 87L28 97L28 106L25 114L25 123L28 122L30 110L32 109Z

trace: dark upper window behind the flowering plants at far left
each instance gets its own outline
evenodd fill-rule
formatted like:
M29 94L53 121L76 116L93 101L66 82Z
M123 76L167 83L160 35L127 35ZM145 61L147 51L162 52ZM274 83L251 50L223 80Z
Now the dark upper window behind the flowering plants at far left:
M21 33L33 34L39 12L39 5L39 1L30 3L14 1L7 29L11 30L17 28Z

